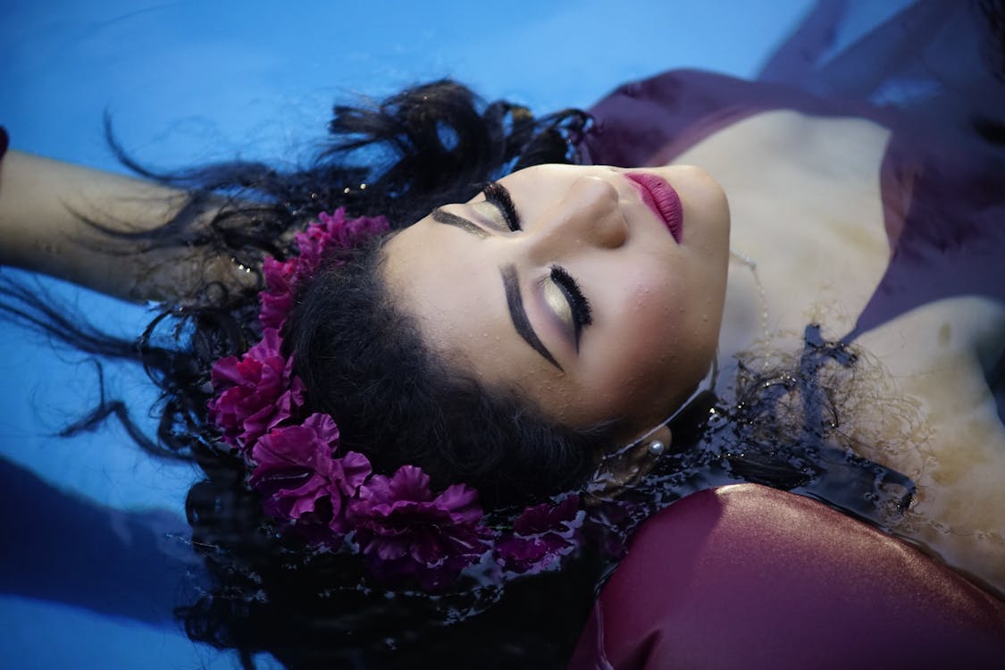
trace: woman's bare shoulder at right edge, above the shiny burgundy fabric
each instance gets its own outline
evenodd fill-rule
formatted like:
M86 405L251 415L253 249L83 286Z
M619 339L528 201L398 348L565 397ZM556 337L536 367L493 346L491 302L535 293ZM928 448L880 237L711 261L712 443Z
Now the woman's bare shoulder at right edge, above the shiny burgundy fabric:
M914 309L860 344L884 368L890 394L914 404L910 441L888 416L889 440L867 457L918 486L897 532L1005 594L1005 426L992 392L1005 356L1005 306L965 296Z

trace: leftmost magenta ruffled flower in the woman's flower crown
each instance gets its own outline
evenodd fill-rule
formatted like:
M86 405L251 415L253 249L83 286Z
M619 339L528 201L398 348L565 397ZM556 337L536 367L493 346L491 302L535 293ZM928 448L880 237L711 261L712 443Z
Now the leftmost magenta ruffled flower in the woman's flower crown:
M304 404L304 383L293 376L292 359L279 351L279 333L266 328L261 342L238 360L220 359L213 365L209 418L230 445L247 451L255 441Z

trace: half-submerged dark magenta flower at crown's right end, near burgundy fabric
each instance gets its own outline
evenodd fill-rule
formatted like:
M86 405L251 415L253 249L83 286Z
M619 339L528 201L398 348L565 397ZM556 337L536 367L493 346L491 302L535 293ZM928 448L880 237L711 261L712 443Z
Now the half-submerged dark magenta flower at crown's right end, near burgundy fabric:
M559 504L545 502L528 507L495 545L502 567L514 573L537 575L558 567L562 557L577 546L583 523L579 498L569 495Z

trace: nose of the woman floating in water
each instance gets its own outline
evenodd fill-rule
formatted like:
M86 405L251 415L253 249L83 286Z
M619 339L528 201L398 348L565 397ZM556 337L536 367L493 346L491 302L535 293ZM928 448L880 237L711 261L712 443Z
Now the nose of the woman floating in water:
M614 249L628 237L617 189L600 177L577 179L544 216L534 236L542 250L579 246Z

